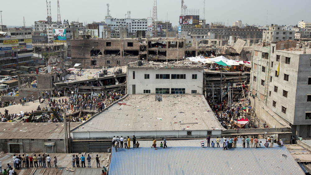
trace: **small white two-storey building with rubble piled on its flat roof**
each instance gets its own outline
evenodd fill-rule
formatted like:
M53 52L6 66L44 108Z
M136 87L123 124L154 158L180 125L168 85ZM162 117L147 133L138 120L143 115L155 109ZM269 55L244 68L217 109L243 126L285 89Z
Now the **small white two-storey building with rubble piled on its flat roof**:
M128 94L203 94L203 68L156 62L129 63Z

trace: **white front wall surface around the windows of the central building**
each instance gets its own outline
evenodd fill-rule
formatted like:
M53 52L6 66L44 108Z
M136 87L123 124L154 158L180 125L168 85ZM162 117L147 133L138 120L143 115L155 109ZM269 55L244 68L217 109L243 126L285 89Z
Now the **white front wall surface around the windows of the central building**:
M135 79L133 79L133 71L135 71ZM149 79L145 79L145 74L149 74ZM156 74L170 74L170 79L156 79ZM186 79L171 79L171 74L186 74ZM192 79L193 74L197 74L197 79ZM144 90L150 90L150 94L156 94L156 88L170 88L170 94L171 88L185 88L185 94L191 94L192 90L197 90L197 94L202 94L203 69L172 68L171 66L160 69L128 67L128 94L132 94L132 85L136 85L136 94L144 94Z

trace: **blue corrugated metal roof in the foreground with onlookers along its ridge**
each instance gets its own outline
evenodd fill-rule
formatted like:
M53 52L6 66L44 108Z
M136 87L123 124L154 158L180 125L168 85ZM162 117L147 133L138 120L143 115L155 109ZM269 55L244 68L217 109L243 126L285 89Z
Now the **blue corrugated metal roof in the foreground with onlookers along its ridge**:
M169 140L167 149L158 150L150 148L152 141L141 141L141 148L113 150L109 175L304 174L285 147L241 148L239 140L238 148L223 150L202 148L201 141Z

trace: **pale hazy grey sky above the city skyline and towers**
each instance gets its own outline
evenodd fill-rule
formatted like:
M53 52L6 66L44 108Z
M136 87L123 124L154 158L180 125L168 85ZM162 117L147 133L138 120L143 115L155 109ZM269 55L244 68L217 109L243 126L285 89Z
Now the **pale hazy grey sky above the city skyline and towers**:
M203 16L204 0L184 0L189 9L200 9L200 19ZM131 18L147 18L152 16L153 0L59 0L62 21L78 21L91 23L104 21L107 14L106 3L109 3L110 15L113 18L124 18L131 11ZM296 25L298 21L311 22L310 0L206 0L205 19L207 23L214 21L229 22L242 20L248 25ZM2 3L3 25L26 25L34 21L46 20L47 10L44 0L14 0L9 6ZM181 0L157 0L158 20L168 19L172 25L177 25L181 10ZM268 13L268 19L267 19ZM51 0L52 20L57 21L57 0Z

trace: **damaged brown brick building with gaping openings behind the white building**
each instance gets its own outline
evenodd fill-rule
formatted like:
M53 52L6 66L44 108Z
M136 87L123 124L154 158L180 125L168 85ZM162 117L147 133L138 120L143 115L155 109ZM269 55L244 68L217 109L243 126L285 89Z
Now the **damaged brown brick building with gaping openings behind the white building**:
M137 60L181 60L185 54L184 39L126 38L74 39L72 64L85 68L124 66Z

